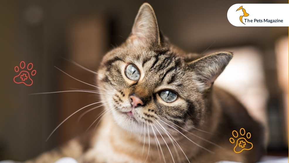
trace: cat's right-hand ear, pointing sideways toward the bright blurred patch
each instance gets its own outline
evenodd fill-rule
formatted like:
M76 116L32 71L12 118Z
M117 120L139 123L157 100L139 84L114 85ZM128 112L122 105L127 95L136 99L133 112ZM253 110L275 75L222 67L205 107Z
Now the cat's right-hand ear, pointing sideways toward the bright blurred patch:
M191 71L194 72L194 78L200 82L201 91L212 86L232 57L233 53L222 51L212 53L189 63Z

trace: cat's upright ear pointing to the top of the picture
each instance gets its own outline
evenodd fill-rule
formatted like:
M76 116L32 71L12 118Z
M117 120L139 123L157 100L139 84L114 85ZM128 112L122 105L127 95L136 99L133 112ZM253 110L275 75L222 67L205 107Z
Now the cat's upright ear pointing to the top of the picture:
M160 45L157 18L152 6L148 3L140 6L128 41L136 46L149 46L151 43Z

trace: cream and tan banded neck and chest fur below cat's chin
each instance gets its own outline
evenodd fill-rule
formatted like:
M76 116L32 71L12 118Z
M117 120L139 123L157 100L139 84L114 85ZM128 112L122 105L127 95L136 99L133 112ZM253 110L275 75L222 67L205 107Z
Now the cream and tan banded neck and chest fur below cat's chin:
M96 145L98 146L98 151L103 153L104 157L106 157L106 152L113 152L112 155L117 156L118 154L121 154L135 159L133 162L144 162L145 159L150 160L149 162L162 162L161 160L163 160L163 157L166 160L171 160L172 155L175 159L179 157L179 159L185 161L187 159L186 157L194 157L200 149L186 138L188 137L194 142L200 144L200 140L196 139L196 137L192 135L187 135L186 133L184 133L186 137L183 135L174 135L173 139L169 138L168 135L164 133L160 136L157 134L158 131L156 129L154 130L156 137L151 133L148 137L147 131L146 134L144 134L144 132L134 133L127 131L115 123L112 115L108 114L101 122ZM176 142L175 140L178 144L172 143ZM192 147L195 147L188 149L185 147L186 144L191 144ZM186 153L186 156L183 153ZM127 160L123 160L123 162L126 161ZM130 160L130 162L131 161L132 160Z

